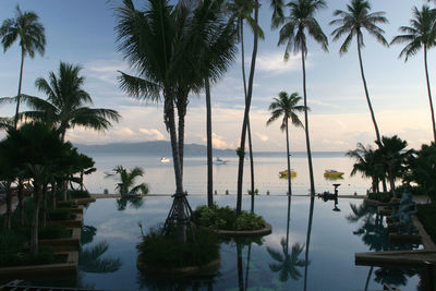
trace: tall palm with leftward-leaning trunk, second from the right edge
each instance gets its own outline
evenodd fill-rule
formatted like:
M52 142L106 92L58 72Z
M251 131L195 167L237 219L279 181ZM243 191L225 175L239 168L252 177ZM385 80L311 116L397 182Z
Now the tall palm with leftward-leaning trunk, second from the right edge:
M377 26L378 23L388 23L388 20L385 17L385 12L373 12L371 11L370 2L366 0L351 0L351 3L347 5L348 12L342 10L336 10L334 12L335 16L339 16L339 19L330 22L330 25L338 25L331 35L334 36L334 40L338 40L342 35L347 35L346 40L340 47L339 53L342 56L346 53L350 47L350 44L355 35L358 43L358 53L359 53L359 63L361 68L361 75L363 81L363 87L365 89L366 102L370 108L371 118L374 123L375 134L377 141L380 141L380 133L378 131L378 125L375 119L373 106L371 105L370 94L366 86L365 74L363 71L363 62L362 62L362 52L361 48L364 46L363 43L363 34L362 29L365 28L371 35L373 35L382 45L388 46L383 34L385 33L382 28Z

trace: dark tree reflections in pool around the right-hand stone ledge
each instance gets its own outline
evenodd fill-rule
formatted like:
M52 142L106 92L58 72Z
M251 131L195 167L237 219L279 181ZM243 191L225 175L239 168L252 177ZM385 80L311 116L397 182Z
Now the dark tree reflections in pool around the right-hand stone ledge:
M350 204L350 207L352 214L348 215L346 218L349 222L363 222L358 230L353 231L353 234L362 238L363 243L368 245L368 251L380 252L413 248L412 244L396 245L390 243L389 231L383 225L383 216L380 217L377 214L375 207L368 206L364 203L359 206ZM373 270L374 266L371 266L364 290L367 290L368 288ZM374 281L380 284L405 286L408 282L407 277L416 275L416 271L400 267L380 267L376 269L374 274Z

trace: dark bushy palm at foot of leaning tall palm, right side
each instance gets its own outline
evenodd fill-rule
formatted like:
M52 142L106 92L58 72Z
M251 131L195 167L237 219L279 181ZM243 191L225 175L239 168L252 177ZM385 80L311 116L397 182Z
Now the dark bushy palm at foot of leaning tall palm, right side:
M382 136L382 142L377 142L377 145L379 147L377 150L380 151L382 161L390 182L390 191L396 196L395 181L397 178L403 177L405 160L412 154L412 150L405 150L408 142L402 141L397 135Z

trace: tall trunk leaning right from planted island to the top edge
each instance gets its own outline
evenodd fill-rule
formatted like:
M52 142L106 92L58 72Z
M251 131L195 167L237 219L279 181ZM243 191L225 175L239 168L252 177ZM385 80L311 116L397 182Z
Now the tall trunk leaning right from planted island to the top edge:
M253 95L253 81L254 81L254 70L256 68L256 56L257 56L257 24L258 24L258 1L255 1L254 8L254 40L253 40L253 53L252 53L252 64L250 69L249 76L249 90L245 100L245 111L244 111L244 121L242 123L242 133L241 133L241 145L240 145L240 154L239 154L239 167L238 167L238 195L237 195L237 215L239 216L242 210L242 179L243 179L243 170L244 170L244 150L245 150L245 133L246 126L249 122L250 114L250 106L252 101Z

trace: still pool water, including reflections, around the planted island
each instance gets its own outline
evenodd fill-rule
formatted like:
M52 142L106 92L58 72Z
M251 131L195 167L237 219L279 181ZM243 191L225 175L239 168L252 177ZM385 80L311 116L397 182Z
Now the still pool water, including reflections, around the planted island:
M234 195L214 198L220 206L235 205ZM149 196L120 204L106 198L90 204L84 225L94 227L95 234L90 231L83 238L87 256L81 256L77 277L33 283L102 290L383 290L383 283L393 283L402 291L420 284L414 270L354 265L356 252L416 247L390 245L386 226L361 199L341 198L340 211L334 211L332 201L301 196L256 196L255 211L272 226L272 233L254 241L222 242L221 266L213 275L141 274L136 268L138 222L144 231L164 222L171 199ZM189 202L195 208L206 203L206 196L190 195ZM247 195L243 207L250 209Z

